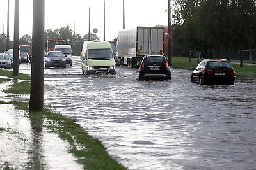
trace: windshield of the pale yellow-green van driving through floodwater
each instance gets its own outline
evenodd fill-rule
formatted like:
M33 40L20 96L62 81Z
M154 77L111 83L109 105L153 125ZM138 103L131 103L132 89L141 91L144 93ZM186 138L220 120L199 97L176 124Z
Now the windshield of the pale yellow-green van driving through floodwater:
M88 50L88 59L111 59L111 58L113 58L111 48Z

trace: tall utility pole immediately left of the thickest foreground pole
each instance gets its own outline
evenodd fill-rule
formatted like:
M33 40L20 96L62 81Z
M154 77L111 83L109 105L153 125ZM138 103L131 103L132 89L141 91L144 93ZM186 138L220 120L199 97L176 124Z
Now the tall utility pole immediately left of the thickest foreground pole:
M14 10L13 76L19 76L19 1L15 0Z

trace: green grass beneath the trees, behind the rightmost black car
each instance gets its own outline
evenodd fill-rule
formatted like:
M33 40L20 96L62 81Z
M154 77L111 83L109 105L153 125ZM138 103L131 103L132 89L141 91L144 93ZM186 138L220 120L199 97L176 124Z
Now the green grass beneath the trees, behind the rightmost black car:
M232 61L232 62L239 62L239 61ZM191 62L189 62L188 57L172 57L173 68L188 69L192 71L193 70L192 67L196 67L197 65L198 65L198 62L195 58L192 58ZM243 64L243 67L240 67L239 64L232 64L232 66L234 67L237 76L256 77L255 66L247 66L245 64Z

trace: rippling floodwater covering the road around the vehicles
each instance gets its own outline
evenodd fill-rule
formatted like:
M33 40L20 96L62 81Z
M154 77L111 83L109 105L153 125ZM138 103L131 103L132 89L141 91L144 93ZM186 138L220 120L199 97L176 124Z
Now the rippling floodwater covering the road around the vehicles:
M21 64L20 73L30 74ZM256 81L198 85L191 71L138 81L136 69L84 76L79 57L45 69L44 103L81 124L128 169L255 169Z

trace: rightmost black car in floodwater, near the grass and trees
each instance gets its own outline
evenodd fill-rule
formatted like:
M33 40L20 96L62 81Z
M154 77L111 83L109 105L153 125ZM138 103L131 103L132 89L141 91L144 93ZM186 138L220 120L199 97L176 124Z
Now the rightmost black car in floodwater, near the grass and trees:
M191 82L204 84L233 85L236 73L227 60L202 60L191 74Z

